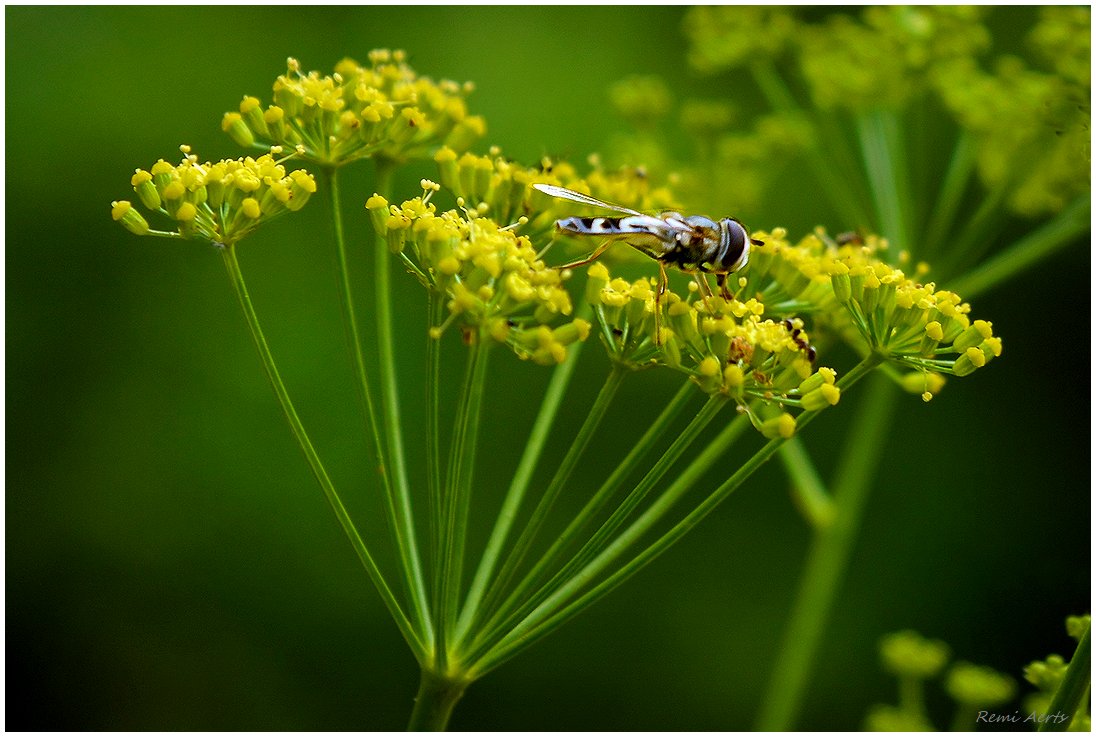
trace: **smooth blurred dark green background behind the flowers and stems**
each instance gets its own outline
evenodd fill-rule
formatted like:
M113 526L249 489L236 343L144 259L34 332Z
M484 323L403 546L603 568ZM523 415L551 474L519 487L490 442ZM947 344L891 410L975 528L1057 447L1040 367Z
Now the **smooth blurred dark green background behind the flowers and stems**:
M659 73L682 97L713 83L686 69L683 12L5 10L8 728L399 729L418 684L284 424L220 259L111 222L134 168L174 160L180 143L239 156L220 116L246 93L269 100L287 56L330 70L375 47L473 80L484 146L581 162L623 126L605 98L618 79ZM433 168L404 173L407 196L423 175ZM352 202L372 192L367 171L346 184ZM808 185L789 177L750 222L842 229L796 189ZM329 470L361 498L372 476L324 211L318 197L264 229L241 261ZM347 227L367 242L364 209ZM893 702L876 656L887 632L916 628L1017 680L1030 660L1068 655L1064 616L1089 606L1088 274L1078 243L978 299L1003 359L927 406L903 399L803 728L857 728L871 703ZM414 421L423 301L397 283ZM582 362L549 458L604 376L596 345ZM482 440L516 460L548 372L501 354L492 370ZM676 384L657 372L626 383L590 467L614 464ZM856 398L807 433L823 468ZM482 468L477 509L489 510L510 467ZM808 541L779 469L764 468L627 586L477 683L452 727L749 728ZM931 707L947 712L943 698Z

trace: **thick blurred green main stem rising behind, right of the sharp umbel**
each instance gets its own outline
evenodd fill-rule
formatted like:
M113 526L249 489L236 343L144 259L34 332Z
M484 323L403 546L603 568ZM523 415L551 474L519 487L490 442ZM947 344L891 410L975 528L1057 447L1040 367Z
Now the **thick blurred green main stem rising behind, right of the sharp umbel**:
M811 543L791 617L762 702L757 729L790 729L799 713L814 655L848 568L875 470L890 435L897 395L890 379L877 375L852 423L832 487L833 522L818 530Z

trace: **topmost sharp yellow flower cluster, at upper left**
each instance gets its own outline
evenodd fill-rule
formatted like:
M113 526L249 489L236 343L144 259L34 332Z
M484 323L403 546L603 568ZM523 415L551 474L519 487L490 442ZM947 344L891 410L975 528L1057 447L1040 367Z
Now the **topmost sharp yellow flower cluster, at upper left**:
M375 50L369 63L343 59L321 76L290 58L274 82L274 104L263 110L246 97L221 127L241 146L273 141L326 166L423 158L443 144L465 150L483 135L483 118L465 103L470 84L420 77L402 52Z

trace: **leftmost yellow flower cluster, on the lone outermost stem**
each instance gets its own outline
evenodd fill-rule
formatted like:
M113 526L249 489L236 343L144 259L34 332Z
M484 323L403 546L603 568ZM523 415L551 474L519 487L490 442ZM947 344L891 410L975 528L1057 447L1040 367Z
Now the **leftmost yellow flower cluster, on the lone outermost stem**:
M316 191L307 171L286 172L273 156L198 163L187 146L182 162L160 159L138 169L130 183L145 207L172 220L174 230L152 230L128 201L112 203L112 216L139 236L204 238L230 246L263 223L304 207Z

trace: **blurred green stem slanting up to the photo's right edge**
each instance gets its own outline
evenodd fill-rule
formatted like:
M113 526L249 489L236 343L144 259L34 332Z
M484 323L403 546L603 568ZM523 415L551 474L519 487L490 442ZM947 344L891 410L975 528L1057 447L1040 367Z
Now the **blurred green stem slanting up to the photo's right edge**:
M966 299L1007 282L1087 233L1091 227L1089 212L1088 197L1077 197L1035 233L1020 238L973 271L954 280L950 288Z

